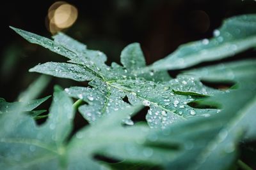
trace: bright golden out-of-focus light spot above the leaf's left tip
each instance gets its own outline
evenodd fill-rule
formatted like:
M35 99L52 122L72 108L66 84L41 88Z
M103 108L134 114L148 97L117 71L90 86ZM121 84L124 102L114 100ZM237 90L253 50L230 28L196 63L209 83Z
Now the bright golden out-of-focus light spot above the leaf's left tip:
M65 1L52 4L47 15L47 29L52 33L71 27L77 19L77 8Z

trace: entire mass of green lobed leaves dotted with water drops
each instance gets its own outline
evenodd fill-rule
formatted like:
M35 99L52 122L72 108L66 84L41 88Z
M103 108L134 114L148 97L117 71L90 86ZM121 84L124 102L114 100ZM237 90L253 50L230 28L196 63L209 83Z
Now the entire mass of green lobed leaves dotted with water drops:
M232 57L256 46L256 15L228 18L214 38L180 46L146 66L138 43L124 48L121 64L63 33L54 40L12 29L31 43L67 57L29 71L75 81L88 87L55 87L43 125L32 111L48 97L20 103L0 101L0 166L3 169L230 169L239 142L256 139L256 60L238 60L187 69L176 78L169 69ZM232 82L218 90L202 81ZM27 92L29 95L31 92ZM76 107L90 125L70 137ZM123 99L127 97L129 103ZM148 106L147 124L131 116ZM203 107L204 106L204 107ZM125 125L126 124L126 125ZM109 164L95 155L118 161ZM214 163L214 164L212 164Z

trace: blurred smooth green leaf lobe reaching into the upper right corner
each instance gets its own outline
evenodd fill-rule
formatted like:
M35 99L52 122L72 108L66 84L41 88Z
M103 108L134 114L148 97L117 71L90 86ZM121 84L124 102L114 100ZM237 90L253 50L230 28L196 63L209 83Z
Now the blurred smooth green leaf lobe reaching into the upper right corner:
M232 57L256 46L255 25L255 14L228 18L220 29L213 32L213 38L181 45L175 52L147 69L183 69L205 61Z

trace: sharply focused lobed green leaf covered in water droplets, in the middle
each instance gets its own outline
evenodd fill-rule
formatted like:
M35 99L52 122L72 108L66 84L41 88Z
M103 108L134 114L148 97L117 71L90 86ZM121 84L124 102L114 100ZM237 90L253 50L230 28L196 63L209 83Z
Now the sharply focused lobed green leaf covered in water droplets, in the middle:
M33 42L42 46L49 41L49 39L37 38L38 36L30 32L14 30L29 41L31 41L30 37L36 38L37 40ZM92 80L89 83L91 87L66 89L70 96L83 99L86 102L79 107L79 111L90 123L97 121L102 115L108 115L112 111L128 107L129 104L122 100L125 96L128 97L131 104L140 103L150 107L146 118L150 127L154 128L164 128L173 122L201 117L205 114L211 115L217 111L192 108L188 105L200 95L211 96L219 92L205 87L199 79L193 76L178 76L172 79L166 71L156 73L147 71L137 74L138 70L145 67L143 52L138 43L128 45L122 51L121 62L124 67L116 63L112 63L111 67L107 66L104 63L106 61L104 53L88 50L85 45L63 33L54 36L54 43L50 50L54 49L54 46L58 46L58 48L62 46L60 49L67 49L75 53L76 57L69 57L73 64L47 62L35 66L29 71L76 81ZM198 96L175 94L173 90L196 93ZM133 122L130 118L131 116L127 115L124 122L132 125Z

